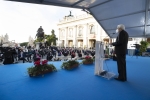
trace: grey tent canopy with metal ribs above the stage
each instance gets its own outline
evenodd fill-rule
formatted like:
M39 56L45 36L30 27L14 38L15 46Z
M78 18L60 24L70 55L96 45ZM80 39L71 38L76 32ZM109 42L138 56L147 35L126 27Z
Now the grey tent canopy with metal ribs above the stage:
M8 0L89 11L110 37L124 24L130 37L150 37L150 0Z

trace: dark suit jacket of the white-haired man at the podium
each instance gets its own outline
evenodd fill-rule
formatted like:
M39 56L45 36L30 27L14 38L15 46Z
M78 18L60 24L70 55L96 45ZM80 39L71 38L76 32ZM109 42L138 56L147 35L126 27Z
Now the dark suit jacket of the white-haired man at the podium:
M122 30L119 33L116 42L112 43L115 46L115 54L126 54L128 38L129 36L126 31Z

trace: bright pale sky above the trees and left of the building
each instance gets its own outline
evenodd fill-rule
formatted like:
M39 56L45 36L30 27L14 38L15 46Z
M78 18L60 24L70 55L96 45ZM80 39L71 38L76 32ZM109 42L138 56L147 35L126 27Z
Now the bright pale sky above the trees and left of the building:
M73 15L84 14L81 9L0 0L0 36L7 33L10 41L28 41L29 36L35 37L39 26L46 34L52 29L58 34L57 23L69 11Z

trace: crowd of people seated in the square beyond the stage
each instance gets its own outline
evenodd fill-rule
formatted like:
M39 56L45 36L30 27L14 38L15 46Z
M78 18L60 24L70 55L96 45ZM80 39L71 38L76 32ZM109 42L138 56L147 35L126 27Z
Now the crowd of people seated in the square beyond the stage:
M13 64L15 62L19 62L20 60L22 60L23 63L32 62L43 58L47 59L48 61L61 61L62 59L65 61L69 58L82 59L82 57L86 55L94 56L95 50L55 46L51 46L49 48L42 47L39 50L31 47L25 49L20 47L0 48L0 61L3 62L3 64Z

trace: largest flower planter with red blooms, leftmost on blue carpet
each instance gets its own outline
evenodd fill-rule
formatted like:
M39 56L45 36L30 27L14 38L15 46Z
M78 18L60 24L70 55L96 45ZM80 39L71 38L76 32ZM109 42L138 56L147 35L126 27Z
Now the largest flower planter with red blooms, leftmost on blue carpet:
M43 75L49 72L57 71L54 65L48 64L47 60L35 61L34 66L28 68L28 74L30 77Z

